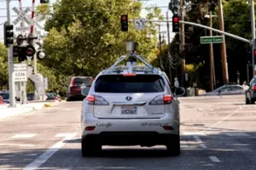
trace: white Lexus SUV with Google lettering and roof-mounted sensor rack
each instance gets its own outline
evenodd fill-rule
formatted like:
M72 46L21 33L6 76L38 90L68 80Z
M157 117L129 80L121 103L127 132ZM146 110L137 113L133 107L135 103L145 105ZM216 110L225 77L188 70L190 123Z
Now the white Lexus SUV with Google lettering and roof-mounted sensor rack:
M119 66L128 58L125 66ZM141 60L144 66L137 66ZM179 95L184 88L177 88ZM163 71L137 54L121 56L84 88L81 111L82 155L92 156L102 145L166 145L180 153L178 94L172 94Z

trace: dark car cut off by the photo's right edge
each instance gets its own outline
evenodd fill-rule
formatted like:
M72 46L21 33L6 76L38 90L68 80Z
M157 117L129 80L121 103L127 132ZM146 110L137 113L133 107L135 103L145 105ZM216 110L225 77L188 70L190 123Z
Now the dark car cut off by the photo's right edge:
M256 101L256 76L249 83L249 88L245 94L246 104L254 104Z

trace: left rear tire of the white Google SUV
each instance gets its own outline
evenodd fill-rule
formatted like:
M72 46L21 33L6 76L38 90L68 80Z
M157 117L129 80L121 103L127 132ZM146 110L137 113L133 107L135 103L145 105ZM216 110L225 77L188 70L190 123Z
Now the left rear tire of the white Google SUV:
M87 141L82 139L81 141L82 156L97 156L102 151L102 145L96 144L94 141Z

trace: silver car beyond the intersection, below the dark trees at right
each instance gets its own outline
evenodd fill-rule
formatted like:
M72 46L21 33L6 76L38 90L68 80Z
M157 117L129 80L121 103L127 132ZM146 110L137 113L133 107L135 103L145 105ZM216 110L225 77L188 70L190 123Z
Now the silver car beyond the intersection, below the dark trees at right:
M212 92L201 94L200 96L214 96L214 95L237 95L245 94L247 88L240 85L224 85L219 87Z

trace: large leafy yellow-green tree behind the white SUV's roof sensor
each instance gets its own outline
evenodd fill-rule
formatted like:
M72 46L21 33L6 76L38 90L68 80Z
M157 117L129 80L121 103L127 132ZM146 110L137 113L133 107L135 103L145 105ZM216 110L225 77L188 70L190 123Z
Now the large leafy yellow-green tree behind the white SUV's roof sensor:
M112 65L125 54L125 42L139 43L137 53L149 60L154 59L157 45L156 30L148 23L144 31L133 29L120 31L120 15L129 14L129 19L138 18L142 3L132 1L83 1L63 0L55 3L51 19L46 22L49 31L44 48L49 54L44 65L58 73L96 76L98 71ZM150 8L148 19L160 17L159 8Z

